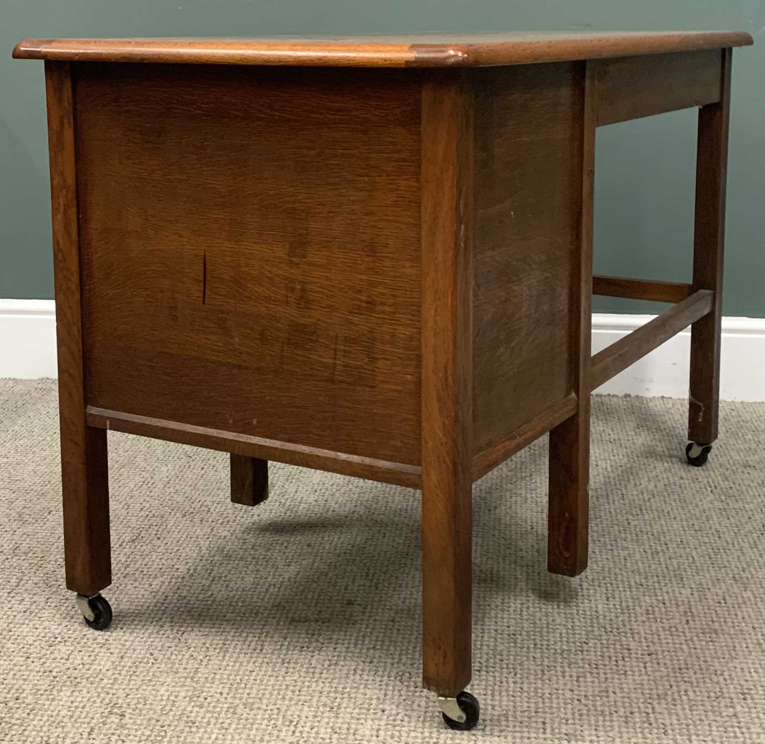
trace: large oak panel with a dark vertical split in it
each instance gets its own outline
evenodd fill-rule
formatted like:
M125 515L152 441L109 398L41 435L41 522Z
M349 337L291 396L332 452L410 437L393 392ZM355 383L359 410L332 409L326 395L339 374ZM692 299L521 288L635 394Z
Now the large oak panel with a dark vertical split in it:
M418 75L76 69L87 402L418 464Z

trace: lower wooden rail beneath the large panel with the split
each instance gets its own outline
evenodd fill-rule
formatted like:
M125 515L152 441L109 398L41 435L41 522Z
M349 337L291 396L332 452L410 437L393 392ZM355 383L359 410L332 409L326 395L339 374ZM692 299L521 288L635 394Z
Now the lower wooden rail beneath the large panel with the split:
M394 485L419 488L420 468L403 462L386 462L375 458L357 457L344 452L306 447L291 442L276 442L273 439L248 436L237 432L210 429L207 426L192 426L177 421L166 421L151 416L135 416L132 413L112 411L88 406L86 419L89 426L98 429L112 429L126 434L150 436L168 442L233 452L236 455L285 462L303 468L327 470L341 475L355 475L371 481L382 481Z

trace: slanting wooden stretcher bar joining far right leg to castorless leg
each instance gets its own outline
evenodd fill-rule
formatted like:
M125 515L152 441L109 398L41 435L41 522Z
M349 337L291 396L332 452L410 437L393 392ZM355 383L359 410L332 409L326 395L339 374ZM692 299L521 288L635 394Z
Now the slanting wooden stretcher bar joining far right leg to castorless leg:
M699 289L636 331L627 334L592 357L592 389L626 370L672 336L703 318L714 305L714 292Z

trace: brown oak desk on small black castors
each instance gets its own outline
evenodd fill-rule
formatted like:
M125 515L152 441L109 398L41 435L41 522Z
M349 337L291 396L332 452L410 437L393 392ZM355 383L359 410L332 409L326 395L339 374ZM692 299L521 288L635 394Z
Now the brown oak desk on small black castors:
M106 429L422 489L423 676L471 728L471 486L550 432L587 566L590 392L692 324L718 432L739 32L45 39L67 586L111 609ZM692 281L592 276L595 129L700 106ZM591 357L591 295L675 303Z

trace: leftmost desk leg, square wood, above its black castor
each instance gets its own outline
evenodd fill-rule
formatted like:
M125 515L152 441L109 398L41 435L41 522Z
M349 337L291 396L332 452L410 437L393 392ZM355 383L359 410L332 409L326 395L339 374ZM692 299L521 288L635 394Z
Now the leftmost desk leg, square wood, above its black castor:
M53 221L58 396L67 589L97 594L112 582L106 432L85 422L74 116L70 66L45 65Z

